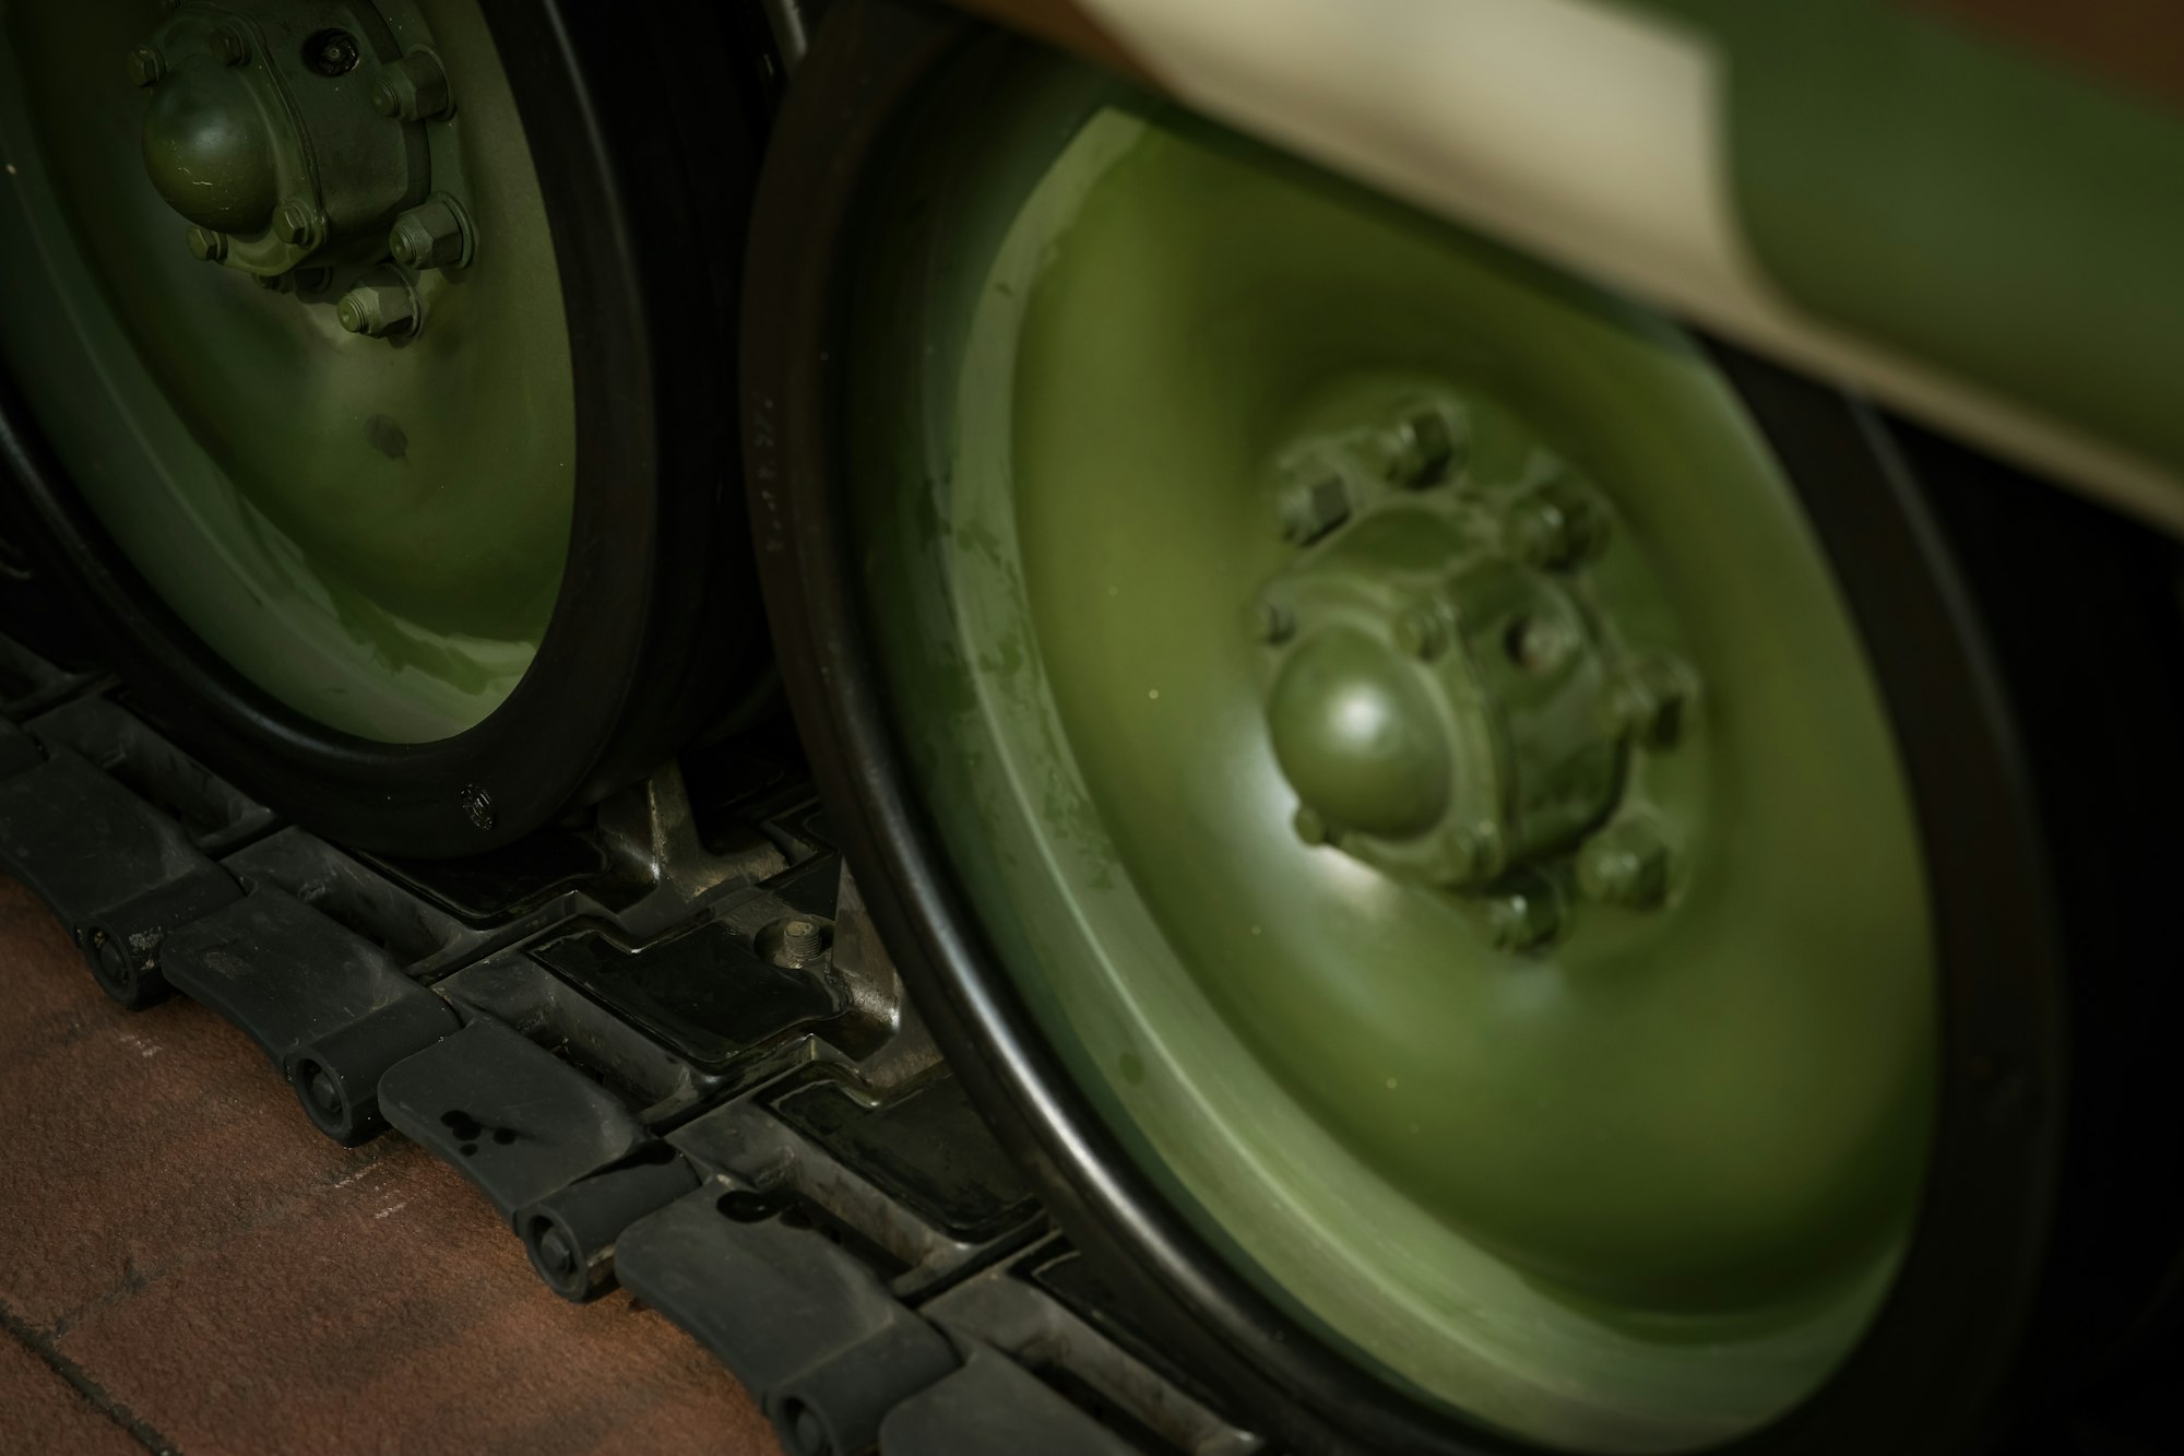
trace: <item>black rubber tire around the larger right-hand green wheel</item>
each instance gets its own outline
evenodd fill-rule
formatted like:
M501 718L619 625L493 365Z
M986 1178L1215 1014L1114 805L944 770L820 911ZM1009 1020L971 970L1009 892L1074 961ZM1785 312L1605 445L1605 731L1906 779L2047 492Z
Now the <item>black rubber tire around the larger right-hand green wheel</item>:
M743 356L753 531L784 680L834 824L957 1073L1153 1338L1286 1447L1529 1449L1365 1375L1267 1301L1162 1200L1044 1043L911 789L865 625L874 603L860 597L863 573L845 544L836 428L845 402L836 391L850 243L860 197L889 166L891 149L917 133L926 87L965 50L1000 44L1018 42L900 0L843 0L797 74L760 184ZM2097 839L2123 811L2110 798L2081 815L2053 813L2086 752L2116 759L2121 743L2169 743L2184 730L2184 636L2173 601L2140 608L2132 630L2167 678L2112 684L2129 704L2099 717L2066 715L2066 732L2046 732L2025 702L2055 682L2051 651L2011 638L2007 619L1994 619L2001 636L1990 632L1983 608L1992 601L1974 603L1891 426L1841 394L1734 350L1719 356L1797 479L1889 702L1928 848L1948 1001L1931 1191L1891 1301L1815 1399L1721 1452L1985 1452L2053 1388L2051 1351L2084 1349L2092 1331L2123 1318L2114 1305L2086 1299L2103 1283L2090 1272L2094 1264L2112 1270L2110 1283L2116 1272L2108 1261L2114 1250L2079 1242L2108 1216L2097 1207L2088 1216L2088 1198L2099 1196L2077 1176L2103 1167L2099 1187L2114 1191L2114 1178L2132 1176L2127 1156L2116 1159L2177 1111L2160 1082L2134 1073L2116 1095L2094 1097L2103 1115L2121 1115L2136 1095L2132 1132L2086 1126L2088 1089L2114 1078L2097 1065L2101 1032L2073 1012L2112 995L2153 1008L2171 993L2140 997L2127 984L2125 973L2136 973L2127 958L2075 960L2118 949L2116 923L2101 918L2103 907L2088 903L2073 872L2051 870L2051 859L2073 864L2088 835ZM2110 603L2143 603L2171 584L2162 551L2057 492L1974 498L1977 490L1948 485L1952 525L1957 505L1992 525L1994 540L1959 531L1959 544L1979 555L1970 582L1981 586L2027 568L2025 549L2053 529L2049 516L2081 527L2075 544L2051 544L2040 557L2051 634L2086 632ZM2022 582L2016 575L2011 590L2022 595ZM2145 805L2145 822L2173 822L2169 815L2184 809L2184 785L2171 778L2177 774L2164 772L2156 785L2160 802ZM2042 818L2042 809L2051 813ZM2171 872L2173 861L2169 855ZM2140 936L2134 944L2160 942ZM2051 1242L2057 1205L2066 1244ZM2184 1220L2173 1220L2169 1257L2180 1231ZM2145 1285L2149 1257L2149 1242L2134 1244L2123 1275L2136 1268ZM2035 1305L2040 1338L2029 1340Z

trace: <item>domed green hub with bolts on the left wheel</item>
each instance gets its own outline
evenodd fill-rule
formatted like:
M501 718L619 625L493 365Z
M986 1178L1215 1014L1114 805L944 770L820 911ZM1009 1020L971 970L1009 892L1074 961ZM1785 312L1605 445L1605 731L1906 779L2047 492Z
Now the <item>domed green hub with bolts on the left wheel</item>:
M371 4L190 0L127 74L151 90L144 171L197 258L332 297L373 337L417 332L417 271L470 260L459 179L435 175L426 133L452 107L448 74Z

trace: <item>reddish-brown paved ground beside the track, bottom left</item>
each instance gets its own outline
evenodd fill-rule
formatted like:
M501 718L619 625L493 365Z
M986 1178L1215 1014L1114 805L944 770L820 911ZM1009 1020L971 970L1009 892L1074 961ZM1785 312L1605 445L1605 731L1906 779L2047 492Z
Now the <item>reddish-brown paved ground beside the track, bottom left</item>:
M325 1141L212 1012L107 1001L7 881L0 1108L0 1452L778 1452L688 1336L548 1294L452 1170Z

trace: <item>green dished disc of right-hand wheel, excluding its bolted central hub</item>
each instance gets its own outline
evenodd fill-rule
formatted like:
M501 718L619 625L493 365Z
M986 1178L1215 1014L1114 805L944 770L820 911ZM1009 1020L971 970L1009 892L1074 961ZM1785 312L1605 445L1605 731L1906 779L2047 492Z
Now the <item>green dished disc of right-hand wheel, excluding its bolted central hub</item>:
M893 715L1000 958L1171 1198L1400 1384L1583 1449L1756 1430L1885 1296L1935 1071L1902 774L1778 466L1634 310L1077 72L996 81L867 230L850 398L887 400L852 507ZM1592 477L1588 608L1706 684L1605 813L1666 826L1666 907L1529 953L1507 881L1295 839L1328 787L1247 632L1304 560L1269 461L1422 398L1481 481L1540 442ZM1538 899L1575 848L1518 859Z

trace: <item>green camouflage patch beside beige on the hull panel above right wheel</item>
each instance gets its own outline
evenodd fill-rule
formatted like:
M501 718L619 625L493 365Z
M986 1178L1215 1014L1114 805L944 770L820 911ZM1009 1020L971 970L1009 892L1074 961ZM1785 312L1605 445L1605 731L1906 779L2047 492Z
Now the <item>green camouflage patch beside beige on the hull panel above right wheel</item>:
M1725 162L1769 282L2184 470L2184 114L1889 0L1638 9L1725 59Z

